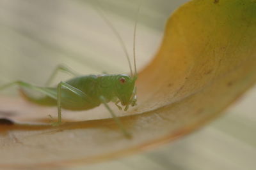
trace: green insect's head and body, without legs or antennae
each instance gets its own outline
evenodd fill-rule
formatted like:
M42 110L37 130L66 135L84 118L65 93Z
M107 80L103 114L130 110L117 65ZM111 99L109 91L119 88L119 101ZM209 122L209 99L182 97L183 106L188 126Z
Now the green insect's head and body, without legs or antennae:
M125 83L120 82L120 78L125 78ZM61 108L66 110L90 110L99 106L102 101L100 96L104 97L106 102L113 101L120 103L123 106L127 106L134 100L134 82L126 74L100 74L100 75L88 75L78 76L65 81L68 85L81 90L86 97L78 96L74 92L62 88L61 90ZM22 96L36 104L45 106L57 105L57 87L40 87L41 89L51 91L52 96L45 96L42 98L35 98L29 96L24 90L20 90ZM134 101L136 102L136 101Z

